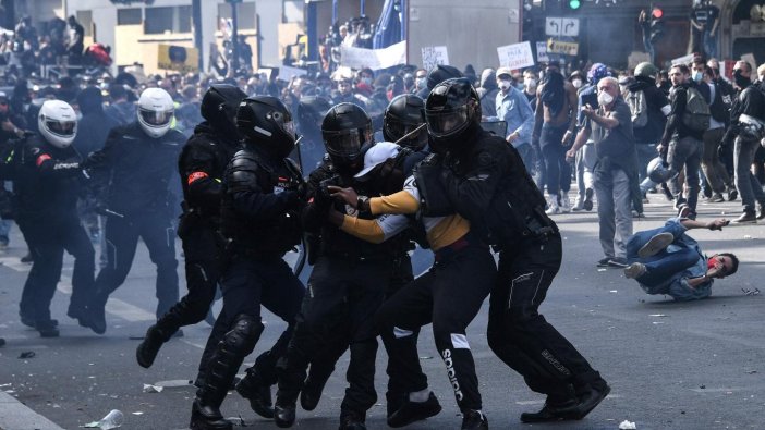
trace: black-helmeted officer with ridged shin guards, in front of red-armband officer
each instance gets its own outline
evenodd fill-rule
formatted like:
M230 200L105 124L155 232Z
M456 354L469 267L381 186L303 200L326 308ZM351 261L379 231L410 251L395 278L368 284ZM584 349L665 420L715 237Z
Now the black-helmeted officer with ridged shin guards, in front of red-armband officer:
M244 148L226 170L221 202L228 261L220 278L223 310L218 319L224 319L227 332L215 346L204 384L196 392L193 430L232 428L221 416L220 405L264 331L260 305L289 327L247 377L256 378L259 385L276 379L274 364L284 353L303 299L303 285L282 259L300 241L303 205L300 170L286 158L295 145L292 115L277 98L247 98L236 111L236 127L244 137ZM252 371L257 371L257 377L250 377ZM253 383L248 380L238 391L260 395L247 390Z

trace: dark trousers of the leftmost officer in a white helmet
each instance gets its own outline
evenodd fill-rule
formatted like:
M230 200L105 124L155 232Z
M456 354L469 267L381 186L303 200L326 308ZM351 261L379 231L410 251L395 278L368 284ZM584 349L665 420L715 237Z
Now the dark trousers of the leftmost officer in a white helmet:
M63 251L74 257L72 297L68 314L82 315L94 288L95 251L76 214L64 216L56 222L19 220L34 262L24 284L20 314L25 319L50 321L50 303L61 278Z

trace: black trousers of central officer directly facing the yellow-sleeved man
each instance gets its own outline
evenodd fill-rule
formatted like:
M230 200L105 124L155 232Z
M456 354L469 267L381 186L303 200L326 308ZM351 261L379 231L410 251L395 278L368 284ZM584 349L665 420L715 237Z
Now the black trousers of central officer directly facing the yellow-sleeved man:
M340 415L363 415L374 406L377 333L373 317L385 299L392 274L392 259L317 259L287 360L279 365L280 398L296 397L308 364L315 357L338 356L338 341L344 339L350 341L351 361ZM326 348L329 352L321 352Z

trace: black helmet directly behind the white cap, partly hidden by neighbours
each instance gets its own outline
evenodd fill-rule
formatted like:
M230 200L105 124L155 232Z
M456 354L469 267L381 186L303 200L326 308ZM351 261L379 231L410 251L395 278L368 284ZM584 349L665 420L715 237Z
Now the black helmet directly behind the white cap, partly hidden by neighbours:
M420 131L416 131L417 128ZM411 136L399 142L409 134ZM398 143L415 151L425 148L427 145L425 100L412 94L393 98L385 110L382 136L388 142Z

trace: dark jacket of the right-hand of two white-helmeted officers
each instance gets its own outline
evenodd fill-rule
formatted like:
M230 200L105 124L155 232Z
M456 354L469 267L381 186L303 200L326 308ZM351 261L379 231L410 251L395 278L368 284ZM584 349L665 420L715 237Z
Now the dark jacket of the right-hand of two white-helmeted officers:
M97 195L109 210L126 217L147 211L166 211L170 217L169 185L184 140L174 130L151 138L137 122L112 128L104 149L87 159Z

